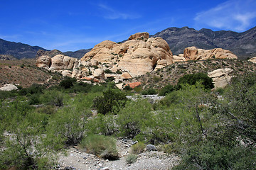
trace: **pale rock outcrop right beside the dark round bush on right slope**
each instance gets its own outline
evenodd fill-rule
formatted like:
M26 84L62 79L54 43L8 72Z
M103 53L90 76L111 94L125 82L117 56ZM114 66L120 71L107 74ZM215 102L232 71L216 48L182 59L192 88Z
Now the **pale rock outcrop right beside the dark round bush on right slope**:
M214 88L224 88L231 81L233 69L215 69L208 73L208 77L213 79Z

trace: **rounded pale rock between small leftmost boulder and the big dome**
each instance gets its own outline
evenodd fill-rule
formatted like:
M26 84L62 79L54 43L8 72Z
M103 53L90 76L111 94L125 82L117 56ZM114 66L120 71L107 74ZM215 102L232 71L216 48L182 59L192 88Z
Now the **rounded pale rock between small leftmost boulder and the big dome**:
M75 69L78 66L78 60L73 57L65 55L55 55L51 58L51 66L49 69L62 70L62 69Z

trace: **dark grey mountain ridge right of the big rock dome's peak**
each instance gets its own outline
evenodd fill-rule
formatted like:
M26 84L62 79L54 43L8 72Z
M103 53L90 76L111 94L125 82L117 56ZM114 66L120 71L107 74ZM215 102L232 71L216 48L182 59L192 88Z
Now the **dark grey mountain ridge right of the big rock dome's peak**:
M167 28L151 37L166 40L174 55L183 53L186 47L196 46L204 50L220 47L230 50L239 58L256 56L256 27L243 33L230 30L213 31L206 28Z

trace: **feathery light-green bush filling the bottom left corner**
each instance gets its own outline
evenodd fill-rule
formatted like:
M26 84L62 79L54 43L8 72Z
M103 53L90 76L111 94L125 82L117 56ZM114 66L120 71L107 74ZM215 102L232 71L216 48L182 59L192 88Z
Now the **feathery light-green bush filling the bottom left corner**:
M58 142L41 133L41 125L35 115L24 118L12 126L11 136L6 137L0 154L1 169L16 166L17 169L50 169L56 151L62 148ZM39 118L40 119L40 118Z

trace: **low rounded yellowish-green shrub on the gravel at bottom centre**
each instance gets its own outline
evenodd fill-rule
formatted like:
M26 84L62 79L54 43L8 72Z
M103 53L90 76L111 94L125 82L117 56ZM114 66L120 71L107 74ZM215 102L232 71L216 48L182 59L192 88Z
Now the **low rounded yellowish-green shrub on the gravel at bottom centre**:
M82 140L80 147L87 149L87 152L100 158L119 159L116 140L110 136L89 135Z

